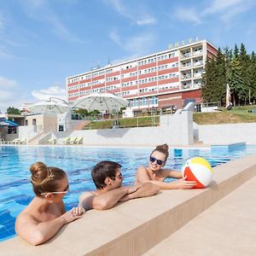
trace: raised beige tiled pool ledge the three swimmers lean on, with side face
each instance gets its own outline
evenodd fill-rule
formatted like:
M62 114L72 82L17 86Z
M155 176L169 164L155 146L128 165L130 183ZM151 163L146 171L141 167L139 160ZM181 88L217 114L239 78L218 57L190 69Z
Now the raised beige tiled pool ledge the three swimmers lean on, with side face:
M0 250L7 255L142 255L254 177L256 154L213 170L207 189L165 190L108 211L91 210L44 245L33 247L15 237L1 242Z

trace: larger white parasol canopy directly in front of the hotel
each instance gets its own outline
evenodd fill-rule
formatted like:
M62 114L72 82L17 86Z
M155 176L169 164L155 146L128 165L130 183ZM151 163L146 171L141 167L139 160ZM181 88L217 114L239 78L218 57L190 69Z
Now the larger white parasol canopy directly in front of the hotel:
M119 108L125 108L128 102L114 95L113 93L93 93L87 96L79 97L73 102L72 108L84 108L89 111L92 110L117 110Z

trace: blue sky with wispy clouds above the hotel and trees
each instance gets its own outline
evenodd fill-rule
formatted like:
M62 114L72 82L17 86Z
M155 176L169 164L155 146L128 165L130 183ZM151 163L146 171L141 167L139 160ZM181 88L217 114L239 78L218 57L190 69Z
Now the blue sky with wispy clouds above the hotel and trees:
M65 96L65 78L188 38L256 50L254 0L0 0L0 109Z

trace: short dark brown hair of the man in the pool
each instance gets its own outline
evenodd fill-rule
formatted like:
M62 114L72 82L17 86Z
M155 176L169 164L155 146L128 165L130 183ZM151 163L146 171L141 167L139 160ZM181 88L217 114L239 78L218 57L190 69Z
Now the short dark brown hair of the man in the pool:
M106 177L115 177L116 171L120 168L119 163L113 161L101 161L94 166L91 171L91 177L97 189L106 187L104 183Z

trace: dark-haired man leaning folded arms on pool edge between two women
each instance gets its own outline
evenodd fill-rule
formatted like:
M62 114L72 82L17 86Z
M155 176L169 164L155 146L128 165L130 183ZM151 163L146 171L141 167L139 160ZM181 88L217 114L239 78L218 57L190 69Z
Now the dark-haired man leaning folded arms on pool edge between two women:
M121 166L113 161L99 162L91 172L96 190L80 195L79 206L84 207L85 210L107 210L114 207L119 201L128 201L158 193L158 186L152 183L122 186L124 177L120 168Z

